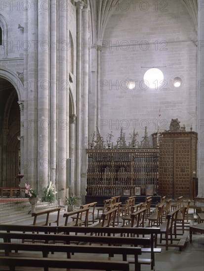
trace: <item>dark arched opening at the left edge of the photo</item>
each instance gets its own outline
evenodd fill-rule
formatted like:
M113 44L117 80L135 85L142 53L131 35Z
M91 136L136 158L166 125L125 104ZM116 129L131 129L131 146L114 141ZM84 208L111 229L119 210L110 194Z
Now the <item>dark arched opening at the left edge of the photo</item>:
M0 186L17 187L19 173L20 108L15 87L0 78Z

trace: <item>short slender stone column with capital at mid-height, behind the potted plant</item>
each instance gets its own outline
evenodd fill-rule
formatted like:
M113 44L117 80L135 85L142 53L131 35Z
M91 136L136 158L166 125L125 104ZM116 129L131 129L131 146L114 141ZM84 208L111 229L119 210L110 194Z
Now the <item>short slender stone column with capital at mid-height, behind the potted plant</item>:
M70 115L70 135L69 135L69 139L70 139L70 158L71 158L71 186L69 186L69 193L76 195L76 183L75 183L75 126L76 126L76 118L77 115L76 114L72 114Z

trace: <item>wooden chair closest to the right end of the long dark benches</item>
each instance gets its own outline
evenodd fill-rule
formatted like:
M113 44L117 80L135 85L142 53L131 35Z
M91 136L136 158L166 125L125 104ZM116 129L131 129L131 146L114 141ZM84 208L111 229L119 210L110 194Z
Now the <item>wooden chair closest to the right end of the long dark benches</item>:
M174 228L176 227L176 220L177 220L177 214L178 214L179 209L175 209L168 213L166 215L166 222L164 222L162 225L160 225L160 243L162 243L162 240L165 240L165 247L166 250L168 250L168 235L170 235L170 243L173 243L173 237L172 237L172 232L173 232L173 226ZM165 235L163 238L162 235Z

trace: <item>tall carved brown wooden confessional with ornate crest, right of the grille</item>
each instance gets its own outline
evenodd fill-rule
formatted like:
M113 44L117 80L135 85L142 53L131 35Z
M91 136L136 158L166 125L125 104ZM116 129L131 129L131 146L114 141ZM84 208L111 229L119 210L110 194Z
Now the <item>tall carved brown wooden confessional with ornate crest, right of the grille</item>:
M157 146L153 134L153 147ZM159 195L176 199L197 196L197 133L185 131L172 119L168 131L160 134Z

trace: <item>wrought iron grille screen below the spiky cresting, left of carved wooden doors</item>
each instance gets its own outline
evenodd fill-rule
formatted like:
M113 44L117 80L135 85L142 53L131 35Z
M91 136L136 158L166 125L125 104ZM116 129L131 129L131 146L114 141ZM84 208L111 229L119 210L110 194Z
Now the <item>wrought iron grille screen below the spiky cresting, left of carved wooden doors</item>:
M159 149L88 149L86 193L90 196L158 193Z

